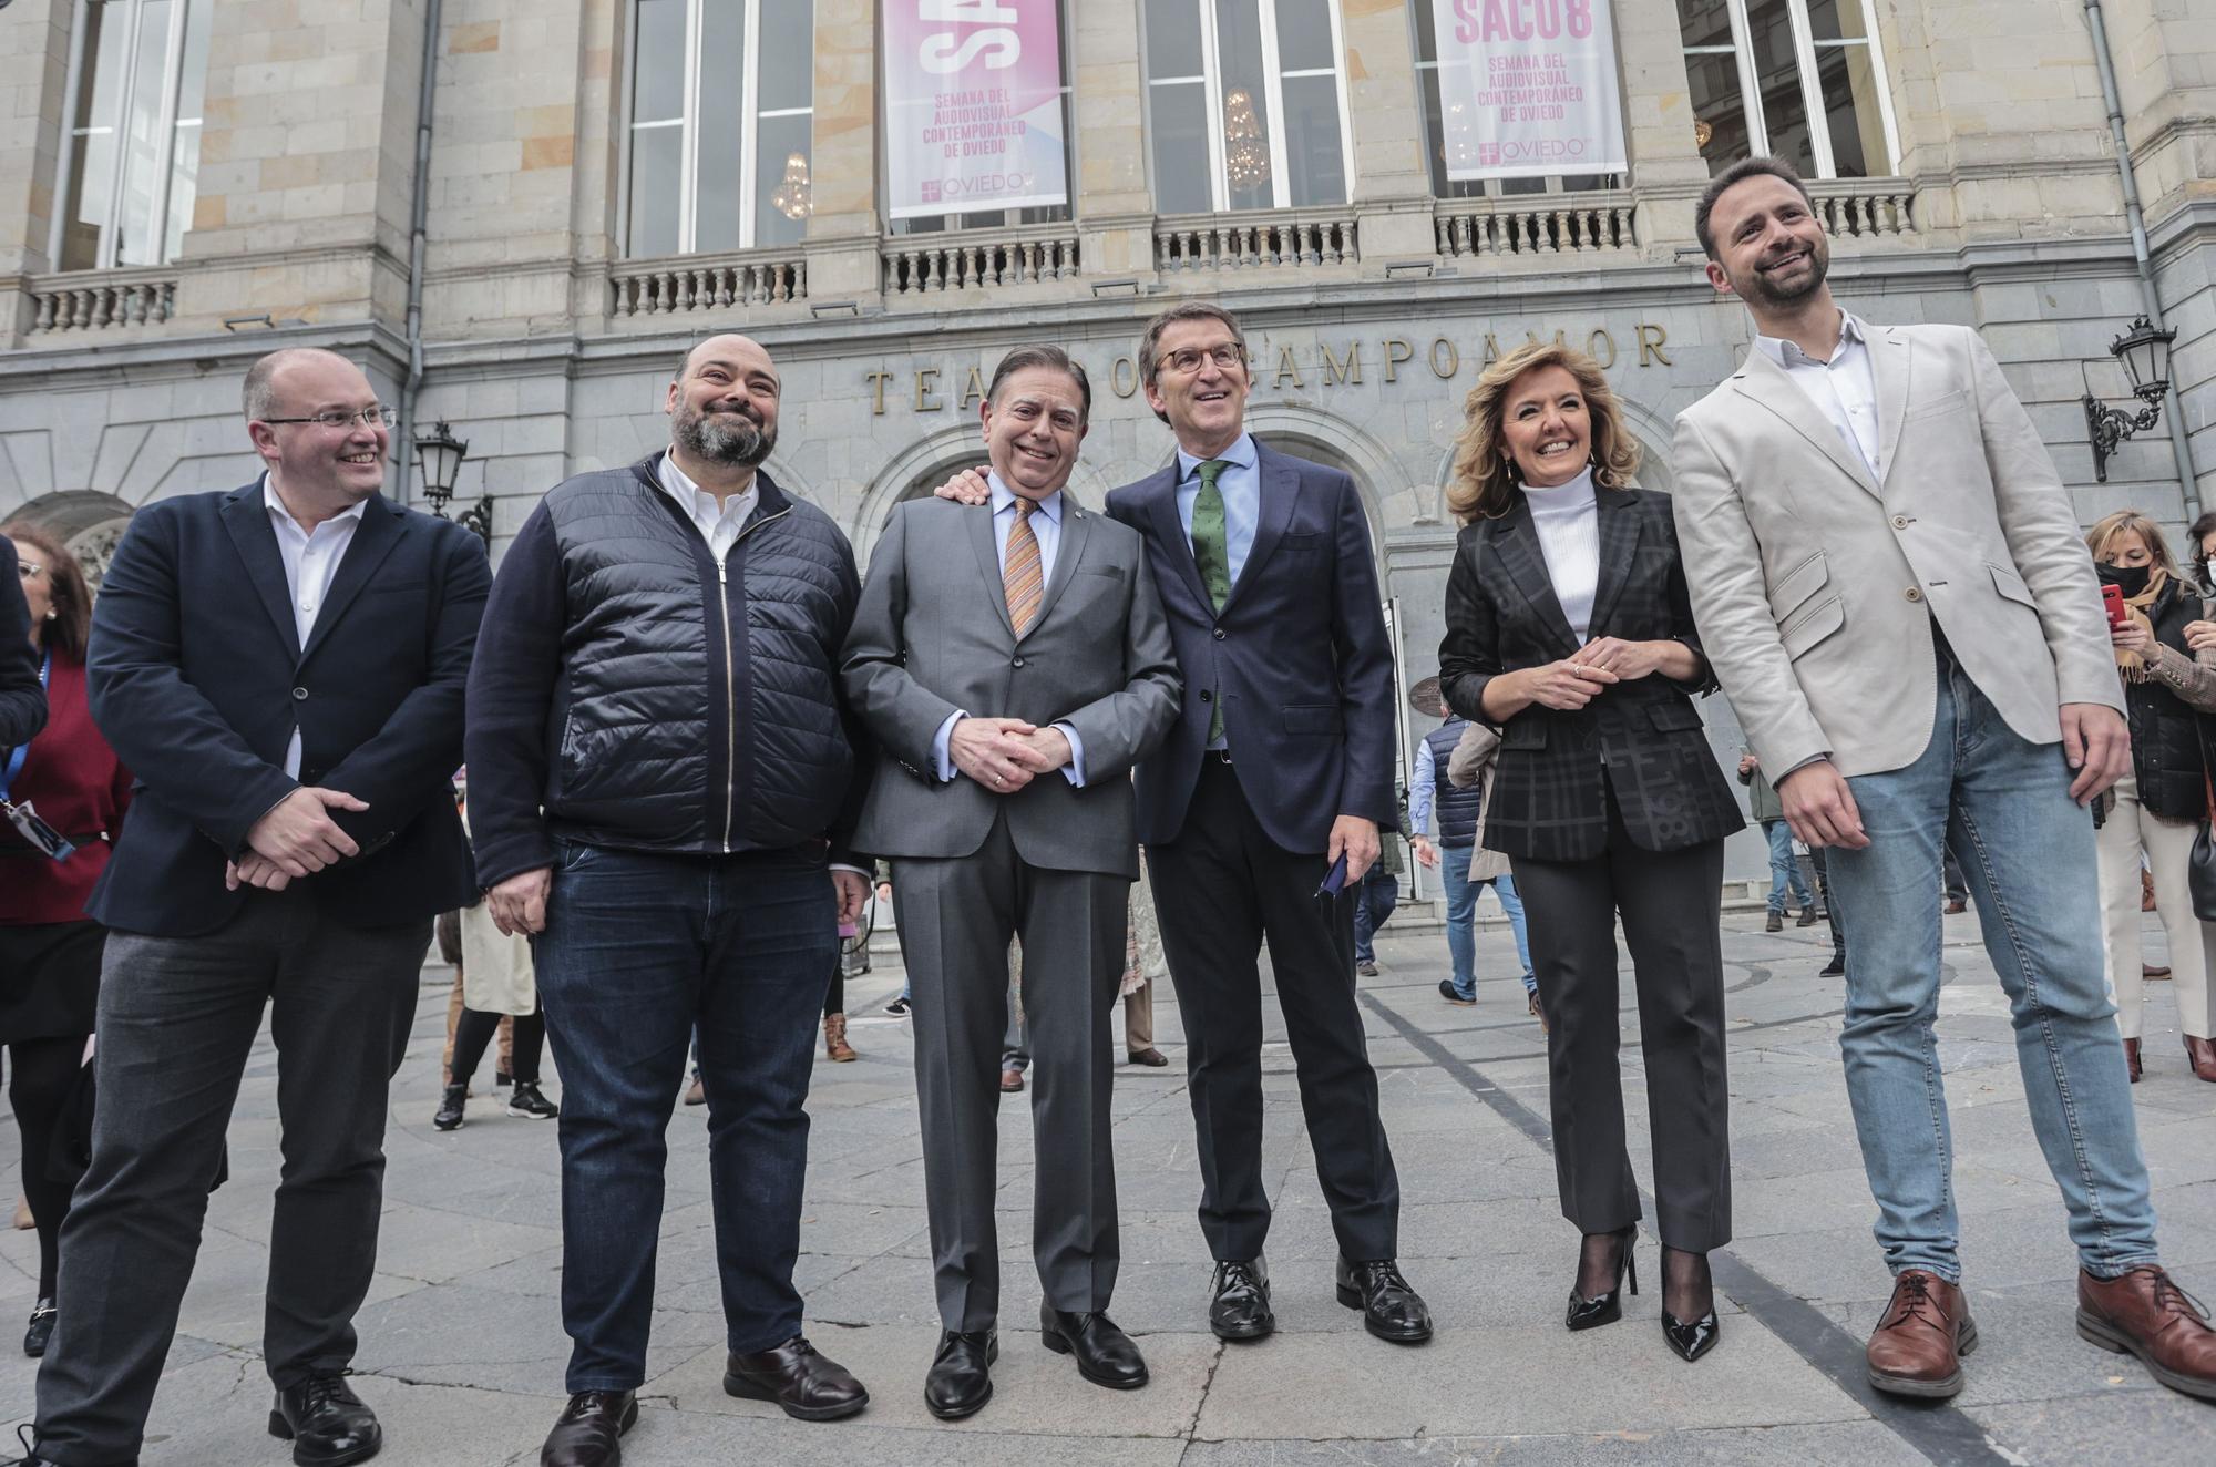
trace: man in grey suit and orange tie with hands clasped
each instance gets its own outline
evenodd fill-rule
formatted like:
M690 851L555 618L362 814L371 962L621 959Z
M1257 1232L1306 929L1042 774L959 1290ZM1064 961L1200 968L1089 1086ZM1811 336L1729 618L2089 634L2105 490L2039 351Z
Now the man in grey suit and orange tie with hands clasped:
M1086 372L1064 350L1002 359L982 408L988 505L900 505L869 558L842 667L847 698L900 765L880 765L855 840L893 862L915 993L944 1325L924 1405L946 1420L993 1394L1013 935L1037 1075L1042 1338L1097 1385L1146 1385L1146 1361L1106 1314L1117 1274L1108 1019L1139 875L1128 776L1177 722L1179 676L1139 534L1061 492L1090 406Z

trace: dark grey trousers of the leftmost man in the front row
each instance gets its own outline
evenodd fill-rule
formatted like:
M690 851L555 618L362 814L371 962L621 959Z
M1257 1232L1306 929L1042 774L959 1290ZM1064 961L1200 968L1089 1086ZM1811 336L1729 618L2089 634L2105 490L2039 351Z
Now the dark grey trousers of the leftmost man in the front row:
M93 1163L62 1228L40 1456L137 1463L264 1004L284 1128L264 1358L279 1387L346 1369L377 1268L388 1088L428 946L428 917L326 922L312 882L257 893L202 937L109 935Z

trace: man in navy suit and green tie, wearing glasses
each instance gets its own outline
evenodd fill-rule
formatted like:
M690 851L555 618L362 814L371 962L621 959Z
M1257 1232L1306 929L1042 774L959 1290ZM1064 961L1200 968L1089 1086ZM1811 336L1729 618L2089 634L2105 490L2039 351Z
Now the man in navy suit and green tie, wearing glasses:
M1201 1232L1217 1259L1208 1325L1228 1341L1276 1330L1261 1168L1268 940L1338 1239L1338 1301L1378 1338L1423 1343L1432 1314L1396 1265L1401 1181L1354 1002L1354 891L1378 831L1398 824L1369 521L1347 474L1248 434L1245 335L1221 306L1155 317L1139 381L1177 432L1177 459L1110 492L1108 514L1146 538L1183 669L1177 727L1139 765L1139 842L1186 1015ZM971 476L946 492L975 503L982 488Z

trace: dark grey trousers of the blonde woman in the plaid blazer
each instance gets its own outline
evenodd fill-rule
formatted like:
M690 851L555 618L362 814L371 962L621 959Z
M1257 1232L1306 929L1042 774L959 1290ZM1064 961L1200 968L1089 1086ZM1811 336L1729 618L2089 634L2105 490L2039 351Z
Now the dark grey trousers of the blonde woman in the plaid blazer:
M1646 1126L1662 1241L1709 1252L1731 1241L1731 1112L1724 1077L1724 842L1689 851L1631 844L1609 802L1609 849L1596 860L1516 858L1531 935L1531 973L1547 1008L1553 1166L1562 1217L1578 1232L1615 1232L1640 1217L1624 1150L1618 1066L1615 917L1640 1002Z

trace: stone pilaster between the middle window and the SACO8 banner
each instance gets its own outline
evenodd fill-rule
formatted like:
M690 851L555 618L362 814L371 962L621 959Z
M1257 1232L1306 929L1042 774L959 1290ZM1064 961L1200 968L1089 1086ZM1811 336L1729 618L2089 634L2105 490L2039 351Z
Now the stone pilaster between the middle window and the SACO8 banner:
M1354 131L1352 193L1365 275L1383 275L1396 261L1434 259L1438 253L1407 7L1409 0L1341 4Z

